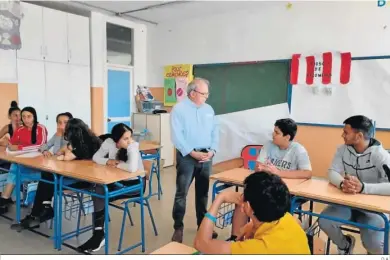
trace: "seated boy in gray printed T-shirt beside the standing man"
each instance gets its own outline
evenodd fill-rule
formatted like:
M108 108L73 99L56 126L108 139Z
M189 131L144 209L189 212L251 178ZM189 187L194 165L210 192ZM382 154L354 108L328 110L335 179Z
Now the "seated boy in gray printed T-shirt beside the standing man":
M257 158L258 171L265 171L289 179L310 179L311 163L306 149L294 142L297 124L290 118L279 119L275 122L272 141L261 148ZM248 218L242 211L235 210L232 223L232 236L235 240L240 227L247 223Z

